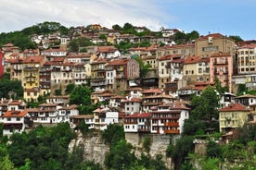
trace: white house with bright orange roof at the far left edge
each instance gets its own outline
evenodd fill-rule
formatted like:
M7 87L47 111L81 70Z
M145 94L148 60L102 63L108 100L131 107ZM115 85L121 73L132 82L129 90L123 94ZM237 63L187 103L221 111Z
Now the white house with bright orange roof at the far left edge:
M22 133L28 123L29 115L26 111L6 111L3 118L3 135L10 136L13 133Z

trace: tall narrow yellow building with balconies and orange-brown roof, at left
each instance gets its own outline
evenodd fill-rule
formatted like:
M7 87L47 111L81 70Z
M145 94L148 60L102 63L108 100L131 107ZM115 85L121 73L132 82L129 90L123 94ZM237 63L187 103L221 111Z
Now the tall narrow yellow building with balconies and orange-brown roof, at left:
M40 95L39 70L45 63L43 56L29 56L22 63L23 97L26 101L37 101Z

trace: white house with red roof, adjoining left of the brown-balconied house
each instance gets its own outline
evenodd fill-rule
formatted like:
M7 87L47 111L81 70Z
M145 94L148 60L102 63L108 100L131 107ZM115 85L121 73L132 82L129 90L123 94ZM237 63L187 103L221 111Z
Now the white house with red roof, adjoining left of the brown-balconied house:
M151 113L134 113L124 116L124 133L150 133Z

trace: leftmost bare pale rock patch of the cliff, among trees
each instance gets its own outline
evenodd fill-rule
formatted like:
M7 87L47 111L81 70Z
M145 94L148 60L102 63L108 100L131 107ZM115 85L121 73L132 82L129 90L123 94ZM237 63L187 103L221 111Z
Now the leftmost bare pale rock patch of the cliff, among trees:
M83 148L84 160L94 161L95 163L104 166L105 156L109 152L109 145L104 143L100 134L94 133L85 137L79 134L76 140L70 142L70 151L74 146Z

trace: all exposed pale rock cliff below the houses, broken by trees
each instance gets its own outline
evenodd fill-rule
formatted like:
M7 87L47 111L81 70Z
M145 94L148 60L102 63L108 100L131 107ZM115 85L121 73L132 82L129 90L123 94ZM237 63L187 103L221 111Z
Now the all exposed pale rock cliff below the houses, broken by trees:
M125 139L134 146L134 153L137 157L140 157L141 152L145 152L145 154L147 154L147 152L142 147L143 137L138 137L137 134L128 134L125 136ZM170 138L161 135L151 135L150 140L150 157L155 158L157 154L161 154L163 156L162 161L165 162L167 167L171 167L172 160L165 156L166 148L169 144ZM83 148L84 160L94 161L95 163L101 164L104 167L104 160L107 153L109 152L109 145L104 143L104 140L101 139L101 136L98 132L87 135L85 137L79 134L76 140L72 140L70 142L70 151L74 146Z

